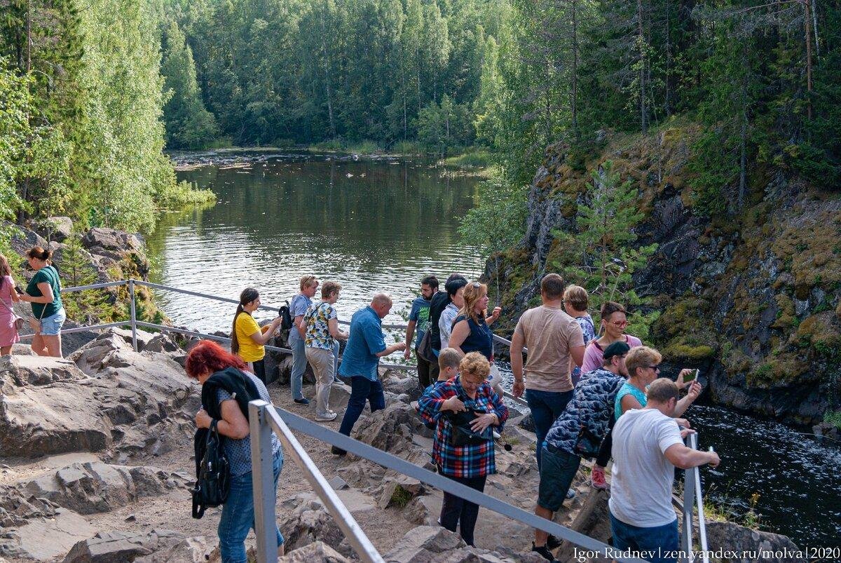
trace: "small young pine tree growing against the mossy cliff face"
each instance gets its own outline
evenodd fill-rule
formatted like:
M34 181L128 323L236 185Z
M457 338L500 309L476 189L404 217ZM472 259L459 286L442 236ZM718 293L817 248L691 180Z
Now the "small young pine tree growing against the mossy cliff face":
M640 311L649 300L637 295L632 275L648 262L657 245L634 247L637 234L633 227L643 219L643 212L637 209L637 189L631 180L622 182L611 161L591 173L589 187L590 200L578 209L578 233L553 233L569 258L563 262L556 259L551 266L562 270L564 279L587 289L593 310L598 311L605 301L629 307L629 332L648 337L659 312Z

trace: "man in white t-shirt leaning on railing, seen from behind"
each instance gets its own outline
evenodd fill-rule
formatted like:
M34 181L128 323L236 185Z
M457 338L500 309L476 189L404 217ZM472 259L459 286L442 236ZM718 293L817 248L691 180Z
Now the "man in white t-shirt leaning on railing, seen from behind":
M715 452L687 448L674 422L680 391L672 380L654 380L648 405L625 412L613 428L611 529L613 547L658 563L677 561L678 521L672 508L674 468L717 466Z

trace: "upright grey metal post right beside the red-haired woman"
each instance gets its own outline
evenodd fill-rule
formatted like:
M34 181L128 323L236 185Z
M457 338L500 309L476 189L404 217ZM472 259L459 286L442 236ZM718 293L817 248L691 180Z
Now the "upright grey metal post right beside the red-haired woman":
M254 493L254 533L257 534L257 561L278 560L278 536L275 534L274 488L272 467L272 427L266 418L267 403L248 405L251 427L251 488Z

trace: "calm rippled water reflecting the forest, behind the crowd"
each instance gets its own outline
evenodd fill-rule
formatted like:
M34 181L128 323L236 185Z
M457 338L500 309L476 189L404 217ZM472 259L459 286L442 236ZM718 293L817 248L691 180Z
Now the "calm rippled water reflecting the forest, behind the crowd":
M430 162L273 155L179 178L213 189L219 203L161 220L149 247L162 284L231 298L251 285L264 302L280 304L312 273L342 284L342 318L385 290L395 300L387 320L400 321L424 274L475 277L481 268L457 233L477 180ZM229 305L175 294L162 294L161 303L178 324L229 328Z

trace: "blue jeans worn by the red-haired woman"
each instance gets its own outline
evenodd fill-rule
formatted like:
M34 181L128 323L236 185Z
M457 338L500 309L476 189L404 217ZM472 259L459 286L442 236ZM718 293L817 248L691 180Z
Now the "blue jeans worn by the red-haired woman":
M283 453L274 459L274 487L278 488L278 476L283 469ZM275 495L272 495L274 502ZM246 536L254 528L254 491L251 488L251 471L245 475L231 477L228 500L222 506L219 521L219 549L222 563L246 563ZM278 523L274 523L278 534L278 546L283 545Z

